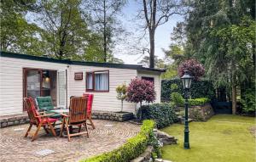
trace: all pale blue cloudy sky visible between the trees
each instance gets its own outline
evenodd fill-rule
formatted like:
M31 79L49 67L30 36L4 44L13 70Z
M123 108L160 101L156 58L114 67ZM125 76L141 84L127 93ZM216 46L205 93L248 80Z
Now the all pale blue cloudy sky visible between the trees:
M131 49L130 43L137 44L134 41L134 37L139 37L143 36L143 31L142 28L139 27L139 25L143 25L145 20L136 20L136 15L138 13L138 10L140 10L143 6L142 3L138 4L137 0L128 0L128 3L125 5L125 7L122 9L122 15L118 17L118 19L121 21L125 31L128 31L132 33L131 35L128 35L125 37L125 39L129 39L130 41L119 41L118 39L116 40L117 42L120 42L117 44L114 49L113 49L113 55L115 58L122 59L125 64L138 64L138 62L143 59L143 56L148 55L148 53L145 53L142 55L140 54L134 54L133 50ZM36 22L35 15L28 13L26 14L26 19L29 22ZM168 46L171 43L171 33L173 30L173 27L176 26L177 22L183 21L183 17L179 16L177 14L172 15L172 17L169 19L168 22L164 25L160 25L157 27L155 31L155 37L154 37L154 54L158 56L158 59L164 59L165 53L163 52L164 49L168 49ZM44 27L44 26L42 26ZM146 35L148 36L148 34ZM148 46L149 48L149 43L148 43L148 38L146 37L142 41L140 41L144 46ZM138 46L138 45L137 45ZM140 45L138 47L141 47Z

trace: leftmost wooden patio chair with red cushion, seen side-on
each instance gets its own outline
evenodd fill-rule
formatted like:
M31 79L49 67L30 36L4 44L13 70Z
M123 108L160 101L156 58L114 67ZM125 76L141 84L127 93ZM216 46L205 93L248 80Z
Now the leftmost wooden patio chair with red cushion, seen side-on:
M53 114L49 114L49 115L39 115L37 109L35 108L34 102L32 98L24 98L23 99L25 107L26 107L26 111L27 111L27 115L29 117L29 122L30 122L30 126L28 127L25 137L28 136L28 134L30 134L31 128L32 126L37 126L37 130L35 131L34 134L32 135L32 141L34 141L37 137L38 137L38 131L40 131L40 128L43 126L44 127L44 131L46 131L46 133L48 134L49 131L47 130L46 126L49 126L50 131L52 132L52 134L54 136L56 136L54 127L52 126L52 124L55 124L57 119L52 119L49 118L49 115L53 115Z

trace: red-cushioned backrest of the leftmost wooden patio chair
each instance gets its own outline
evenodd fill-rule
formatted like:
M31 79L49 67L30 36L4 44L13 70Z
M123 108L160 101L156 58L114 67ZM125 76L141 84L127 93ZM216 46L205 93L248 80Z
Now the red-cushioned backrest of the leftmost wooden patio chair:
M38 113L38 110L35 107L33 98L31 98L31 97L24 98L23 102L25 104L26 112L27 112L27 115L29 117L30 122L33 123L33 124L39 124L40 118L36 117L36 116L39 115L39 113Z

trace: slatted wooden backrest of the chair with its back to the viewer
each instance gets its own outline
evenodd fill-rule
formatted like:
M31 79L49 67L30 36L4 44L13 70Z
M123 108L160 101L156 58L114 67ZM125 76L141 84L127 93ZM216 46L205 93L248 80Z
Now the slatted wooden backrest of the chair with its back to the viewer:
M87 118L87 98L73 97L70 99L69 124L86 121Z

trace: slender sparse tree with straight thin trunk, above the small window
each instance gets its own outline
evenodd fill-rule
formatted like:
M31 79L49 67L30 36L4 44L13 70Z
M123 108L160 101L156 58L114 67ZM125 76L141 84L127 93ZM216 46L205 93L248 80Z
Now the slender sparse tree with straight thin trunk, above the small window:
M117 15L121 13L125 3L125 0L84 0L85 10L90 10L92 26L102 36L104 62L108 61L111 54L113 37L123 32Z

